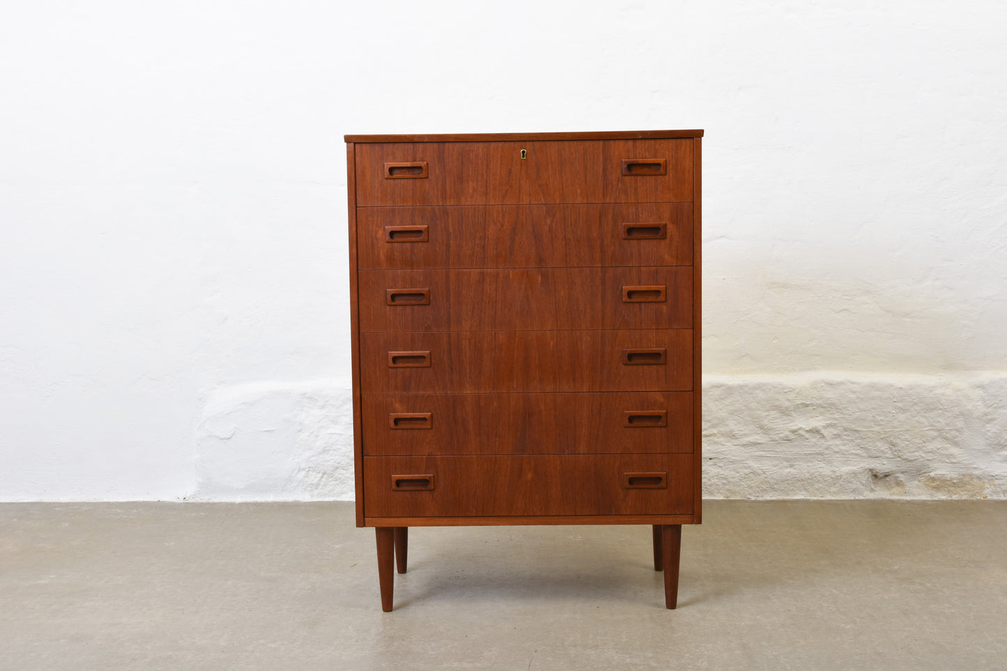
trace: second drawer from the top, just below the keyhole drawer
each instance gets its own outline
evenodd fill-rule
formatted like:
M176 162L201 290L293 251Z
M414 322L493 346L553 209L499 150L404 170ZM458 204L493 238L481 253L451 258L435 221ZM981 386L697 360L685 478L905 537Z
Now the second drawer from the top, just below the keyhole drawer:
M689 266L691 203L361 208L358 267Z

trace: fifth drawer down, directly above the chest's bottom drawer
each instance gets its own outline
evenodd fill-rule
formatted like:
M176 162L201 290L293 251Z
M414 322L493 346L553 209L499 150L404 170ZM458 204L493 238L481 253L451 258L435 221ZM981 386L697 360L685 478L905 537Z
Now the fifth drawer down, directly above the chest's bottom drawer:
M365 394L364 453L693 451L692 392Z

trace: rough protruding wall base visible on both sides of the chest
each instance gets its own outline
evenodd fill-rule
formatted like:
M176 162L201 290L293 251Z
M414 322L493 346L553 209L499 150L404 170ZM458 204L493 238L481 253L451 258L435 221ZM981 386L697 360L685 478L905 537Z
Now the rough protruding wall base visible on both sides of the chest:
M345 382L214 395L194 497L352 499ZM707 376L704 496L1005 498L1005 403L1007 376Z

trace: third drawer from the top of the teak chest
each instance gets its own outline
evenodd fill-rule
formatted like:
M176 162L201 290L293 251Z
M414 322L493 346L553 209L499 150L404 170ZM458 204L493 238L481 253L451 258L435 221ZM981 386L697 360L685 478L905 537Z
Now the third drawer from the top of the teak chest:
M692 327L692 268L362 270L361 331Z

